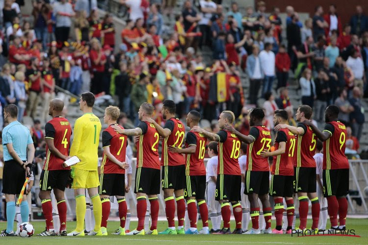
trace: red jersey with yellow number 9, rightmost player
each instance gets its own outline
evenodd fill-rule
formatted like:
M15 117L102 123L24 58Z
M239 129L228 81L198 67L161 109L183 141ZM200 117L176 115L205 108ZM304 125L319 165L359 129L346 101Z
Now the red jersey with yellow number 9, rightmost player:
M331 137L323 142L323 169L348 169L349 162L345 156L346 127L340 121L326 123L324 132Z

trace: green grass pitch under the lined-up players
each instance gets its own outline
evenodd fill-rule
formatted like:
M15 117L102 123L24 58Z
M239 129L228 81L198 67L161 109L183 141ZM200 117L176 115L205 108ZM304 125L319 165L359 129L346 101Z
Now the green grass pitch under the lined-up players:
M274 227L275 221L272 220ZM201 228L201 221L198 230ZM299 221L297 220L298 224ZM44 230L44 221L33 221L35 228L35 234L40 233ZM190 245L190 244L345 244L345 245L363 245L368 244L368 220L367 219L347 219L346 221L348 229L354 229L355 234L361 237L348 237L348 236L308 236L308 237L296 237L295 235L273 235L273 234L262 234L262 235L145 235L145 236L115 236L108 235L103 237L37 237L33 235L31 238L21 237L0 237L1 245L114 245L114 244L174 244L174 245ZM135 228L137 225L136 221L132 221L130 227ZM251 224L250 224L251 225ZM311 226L310 221L308 222L309 227ZM307 225L307 226L308 226ZM327 221L327 227L329 220ZM118 221L108 222L108 233L112 233L119 226ZM158 221L158 231L162 231L166 228L166 221ZM231 224L235 227L234 221ZM76 222L68 222L68 231L71 231L76 227ZM211 227L211 225L210 225ZM0 222L0 228L6 228L6 222Z

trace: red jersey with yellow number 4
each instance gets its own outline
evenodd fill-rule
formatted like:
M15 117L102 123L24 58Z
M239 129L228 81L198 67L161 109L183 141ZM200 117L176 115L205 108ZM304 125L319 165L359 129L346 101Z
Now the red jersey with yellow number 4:
M72 127L69 121L64 117L54 117L45 125L46 139L53 139L53 145L65 156L69 155L71 135ZM64 160L53 155L47 145L46 153L44 170L70 170L70 167L63 168Z

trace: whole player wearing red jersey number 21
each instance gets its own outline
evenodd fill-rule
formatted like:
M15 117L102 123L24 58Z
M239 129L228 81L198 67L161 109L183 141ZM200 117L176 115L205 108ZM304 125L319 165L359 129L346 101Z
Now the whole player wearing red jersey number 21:
M288 119L289 115L286 110L276 110L273 116L273 123L276 126L280 123L287 123ZM275 201L276 228L272 230L272 233L283 234L283 212L286 209L288 217L286 233L291 234L295 210L293 199L294 169L292 166L295 149L294 134L287 128L280 129L277 131L274 147L274 151L263 149L261 152L263 157L273 156L269 195L273 196ZM287 207L284 207L283 197L285 197Z

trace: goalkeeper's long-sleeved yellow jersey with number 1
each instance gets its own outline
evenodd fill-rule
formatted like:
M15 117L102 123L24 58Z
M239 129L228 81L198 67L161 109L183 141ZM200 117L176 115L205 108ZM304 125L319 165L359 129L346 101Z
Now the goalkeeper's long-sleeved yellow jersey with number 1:
M76 169L97 171L100 132L100 119L93 113L85 113L76 120L70 148L70 155L80 159L80 163L75 165Z

